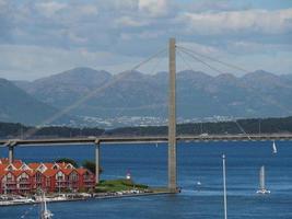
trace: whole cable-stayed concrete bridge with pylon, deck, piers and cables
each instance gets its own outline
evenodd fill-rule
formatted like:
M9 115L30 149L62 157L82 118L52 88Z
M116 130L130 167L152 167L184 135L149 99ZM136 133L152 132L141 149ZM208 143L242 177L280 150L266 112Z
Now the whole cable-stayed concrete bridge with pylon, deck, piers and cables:
M103 92L106 88L112 87L115 83L118 83L122 78L127 77L128 73L132 72L133 70L140 68L142 65L149 62L154 57L165 53L166 49L163 49L154 56L141 61L128 72L121 73L115 78L114 81L107 82L103 84L101 88L90 92L87 95L83 96L81 100L77 101L71 106L65 108L62 112L49 117L46 119L42 125L49 124L55 119L61 117L62 115L67 114L74 107L81 105L85 101L89 101L91 97L98 95L98 93ZM237 69L241 71L245 71L245 69L241 67L236 67L231 64L226 64L220 61L218 59L202 56L191 49L180 47L176 45L175 38L171 38L168 43L168 71L170 71L170 79L168 79L168 135L167 136L147 136L147 137L139 137L139 136L119 136L119 137L87 137L87 138L56 138L56 139L33 139L34 134L37 129L32 128L26 134L24 134L25 139L10 139L10 140L0 140L1 147L8 147L9 149L9 161L13 162L14 159L14 148L16 147L28 147L28 146L58 146L58 145L93 145L95 147L95 164L96 164L96 183L100 182L100 162L101 162L101 145L110 145L110 143L145 143L145 142L168 142L168 189L171 193L177 192L177 184L176 184L176 143L177 141L247 141L247 140L292 140L291 134L273 134L273 135L248 135L244 131L244 129L237 126L243 132L242 135L207 135L207 136L177 136L176 135L176 54L179 53L186 54L190 56L196 61L199 61L207 66L208 68L222 73L222 71L208 61L203 60L209 59L210 61L215 61L220 65L226 66L229 68Z

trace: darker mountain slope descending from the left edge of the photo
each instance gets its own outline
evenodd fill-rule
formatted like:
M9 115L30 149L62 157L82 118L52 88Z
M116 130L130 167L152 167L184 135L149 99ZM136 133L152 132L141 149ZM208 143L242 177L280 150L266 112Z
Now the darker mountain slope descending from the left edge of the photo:
M58 111L47 104L37 101L12 82L0 79L0 120L23 124L42 124ZM68 123L63 116L59 123Z

